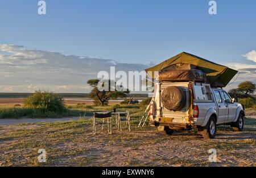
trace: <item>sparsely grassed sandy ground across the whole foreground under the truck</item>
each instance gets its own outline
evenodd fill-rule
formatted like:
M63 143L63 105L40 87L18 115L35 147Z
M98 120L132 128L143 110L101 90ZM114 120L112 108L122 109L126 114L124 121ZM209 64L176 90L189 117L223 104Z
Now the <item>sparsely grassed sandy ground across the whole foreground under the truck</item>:
M256 166L255 139L255 115L245 118L242 132L218 126L215 139L203 139L195 131L164 135L155 127L137 128L137 123L131 132L100 130L93 135L90 119L6 125L0 126L0 165ZM47 152L46 163L38 163L39 148Z

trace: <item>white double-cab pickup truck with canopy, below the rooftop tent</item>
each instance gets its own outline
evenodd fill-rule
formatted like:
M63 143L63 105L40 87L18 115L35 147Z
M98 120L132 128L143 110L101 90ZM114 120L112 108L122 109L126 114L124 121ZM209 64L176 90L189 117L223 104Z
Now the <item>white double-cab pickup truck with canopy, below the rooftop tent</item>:
M150 104L150 126L168 135L197 128L204 138L213 139L217 125L242 131L244 116L243 106L225 90L200 82L159 82Z

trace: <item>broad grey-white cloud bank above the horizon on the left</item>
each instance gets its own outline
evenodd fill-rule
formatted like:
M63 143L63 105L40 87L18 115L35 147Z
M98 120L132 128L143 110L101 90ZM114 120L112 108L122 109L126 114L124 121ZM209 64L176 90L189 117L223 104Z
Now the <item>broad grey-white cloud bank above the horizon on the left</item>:
M110 66L115 66L118 71L142 71L149 67L146 64L126 64L27 49L14 44L0 44L1 51L0 92L3 92L3 86L8 88L15 85L13 92L34 92L40 89L85 93L90 91L86 81L97 78L99 71L109 71Z

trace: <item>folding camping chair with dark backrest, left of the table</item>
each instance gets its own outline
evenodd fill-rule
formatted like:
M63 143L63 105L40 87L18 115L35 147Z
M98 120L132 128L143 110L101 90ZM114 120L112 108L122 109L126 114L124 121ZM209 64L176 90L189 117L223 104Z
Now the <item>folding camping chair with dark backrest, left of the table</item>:
M97 119L100 118L100 119ZM93 134L96 134L97 130L108 128L108 133L112 134L112 113L111 112L94 112L93 113ZM101 120L102 119L102 120ZM105 120L106 119L106 120ZM96 125L100 125L99 129L96 129Z

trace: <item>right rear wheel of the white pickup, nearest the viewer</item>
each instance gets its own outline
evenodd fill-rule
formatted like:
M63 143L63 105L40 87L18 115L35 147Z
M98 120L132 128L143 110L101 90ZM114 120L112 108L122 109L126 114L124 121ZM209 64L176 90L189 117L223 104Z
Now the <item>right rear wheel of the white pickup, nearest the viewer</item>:
M213 139L216 135L216 130L216 119L213 116L211 116L207 125L204 127L202 131L200 131L200 133L206 139Z

